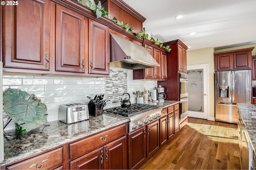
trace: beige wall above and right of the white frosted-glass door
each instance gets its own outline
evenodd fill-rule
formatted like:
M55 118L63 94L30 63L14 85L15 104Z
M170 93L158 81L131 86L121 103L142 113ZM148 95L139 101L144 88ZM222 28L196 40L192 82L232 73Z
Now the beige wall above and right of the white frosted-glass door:
M187 64L209 64L209 116L208 120L214 119L214 48L208 47L203 49L187 51Z

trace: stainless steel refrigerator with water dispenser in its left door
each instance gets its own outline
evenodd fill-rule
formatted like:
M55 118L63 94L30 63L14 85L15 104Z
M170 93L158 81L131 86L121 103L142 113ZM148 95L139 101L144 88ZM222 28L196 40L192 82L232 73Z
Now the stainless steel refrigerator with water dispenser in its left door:
M238 123L237 103L251 104L251 70L215 72L215 120Z

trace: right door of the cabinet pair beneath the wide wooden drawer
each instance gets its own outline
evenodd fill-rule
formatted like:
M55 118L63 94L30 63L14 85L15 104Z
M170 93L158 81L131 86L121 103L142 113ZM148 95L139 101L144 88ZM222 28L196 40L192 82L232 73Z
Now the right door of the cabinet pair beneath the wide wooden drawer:
M122 137L104 147L104 169L127 169L126 137Z

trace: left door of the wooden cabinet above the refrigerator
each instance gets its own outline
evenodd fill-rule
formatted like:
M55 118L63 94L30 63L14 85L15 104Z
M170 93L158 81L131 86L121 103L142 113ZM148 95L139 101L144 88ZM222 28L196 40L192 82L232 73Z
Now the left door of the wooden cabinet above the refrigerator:
M215 68L214 71L232 70L232 65L233 65L232 53L214 55L214 68Z

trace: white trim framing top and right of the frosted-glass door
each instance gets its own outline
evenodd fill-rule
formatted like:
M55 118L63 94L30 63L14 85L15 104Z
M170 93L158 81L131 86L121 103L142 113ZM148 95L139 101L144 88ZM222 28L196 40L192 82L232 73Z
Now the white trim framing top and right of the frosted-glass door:
M193 70L193 69L205 69L206 70L206 100L207 100L207 120L212 120L210 119L210 97L209 97L209 64L196 64L196 65L188 65L187 70ZM205 80L204 80L205 81ZM189 95L189 94L188 94Z

